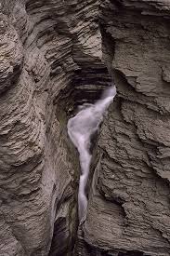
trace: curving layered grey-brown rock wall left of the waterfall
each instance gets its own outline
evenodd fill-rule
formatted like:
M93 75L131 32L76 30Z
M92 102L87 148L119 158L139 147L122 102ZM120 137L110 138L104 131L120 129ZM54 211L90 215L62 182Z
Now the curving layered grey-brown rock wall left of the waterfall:
M2 0L0 8L0 255L69 255L79 166L67 115L111 80L98 1Z

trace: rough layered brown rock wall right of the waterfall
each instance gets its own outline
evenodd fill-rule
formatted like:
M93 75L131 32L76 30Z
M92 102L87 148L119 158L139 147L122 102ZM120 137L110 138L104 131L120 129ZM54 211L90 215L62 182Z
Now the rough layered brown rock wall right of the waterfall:
M114 0L100 10L103 57L118 94L98 141L85 242L94 255L167 256L170 4Z

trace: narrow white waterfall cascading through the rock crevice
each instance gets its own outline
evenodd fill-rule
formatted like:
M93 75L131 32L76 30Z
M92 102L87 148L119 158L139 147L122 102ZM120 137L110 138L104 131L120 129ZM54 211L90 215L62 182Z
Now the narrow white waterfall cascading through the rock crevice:
M98 130L103 115L115 95L115 87L105 89L100 100L95 104L84 104L78 114L68 121L68 134L80 155L81 175L78 191L78 212L80 222L85 218L87 208L85 186L91 161L89 150L91 137Z

